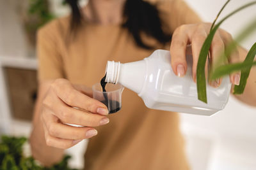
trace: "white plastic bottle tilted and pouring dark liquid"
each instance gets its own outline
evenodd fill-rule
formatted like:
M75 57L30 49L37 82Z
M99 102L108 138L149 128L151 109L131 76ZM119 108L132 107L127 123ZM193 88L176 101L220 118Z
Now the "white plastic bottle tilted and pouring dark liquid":
M120 64L108 61L106 82L120 83L140 96L148 108L212 115L223 110L230 93L228 77L218 88L207 85L207 104L197 98L196 83L191 76L192 57L187 56L186 76L176 76L171 67L170 52L156 50L149 57Z

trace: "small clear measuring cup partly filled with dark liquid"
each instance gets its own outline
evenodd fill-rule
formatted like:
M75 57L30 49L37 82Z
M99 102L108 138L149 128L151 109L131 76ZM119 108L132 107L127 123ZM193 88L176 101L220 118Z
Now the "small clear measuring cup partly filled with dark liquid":
M106 92L102 92L100 83L92 86L93 99L97 99L108 107L109 114L116 113L122 107L122 92L124 87L117 84L107 83Z

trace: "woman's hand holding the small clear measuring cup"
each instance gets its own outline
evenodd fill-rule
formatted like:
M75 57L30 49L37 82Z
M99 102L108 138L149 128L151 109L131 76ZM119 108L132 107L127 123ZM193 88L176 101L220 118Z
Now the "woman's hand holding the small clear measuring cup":
M108 108L89 96L92 96L90 88L72 85L65 79L57 79L51 84L41 112L48 146L70 148L97 135L93 127L108 124Z

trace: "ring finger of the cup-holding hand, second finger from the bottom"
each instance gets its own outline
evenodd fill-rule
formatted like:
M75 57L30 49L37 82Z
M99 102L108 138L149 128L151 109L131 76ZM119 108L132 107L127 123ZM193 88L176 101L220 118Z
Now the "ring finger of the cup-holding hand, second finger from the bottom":
M52 137L63 139L87 139L97 135L96 129L92 127L73 127L70 125L61 124L60 121L55 121L55 117L51 114L44 114L44 124L47 131Z

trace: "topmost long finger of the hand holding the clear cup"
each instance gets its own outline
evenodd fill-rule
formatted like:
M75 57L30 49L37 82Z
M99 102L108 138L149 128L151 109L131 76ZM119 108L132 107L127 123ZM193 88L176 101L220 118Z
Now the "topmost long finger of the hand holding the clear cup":
M92 99L72 87L72 84L64 79L53 83L53 89L60 99L72 107L81 108L92 113L108 115L108 108L105 104ZM65 89L65 90L63 90Z

